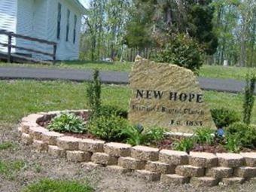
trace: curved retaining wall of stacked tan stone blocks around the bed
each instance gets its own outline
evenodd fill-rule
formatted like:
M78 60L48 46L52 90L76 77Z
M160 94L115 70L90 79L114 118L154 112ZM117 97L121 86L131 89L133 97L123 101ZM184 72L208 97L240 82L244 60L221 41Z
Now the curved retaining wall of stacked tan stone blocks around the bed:
M67 112L67 111L66 111ZM69 111L84 114L88 111ZM151 181L190 181L197 185L242 183L256 177L256 153L201 153L160 150L147 146L98 139L81 139L49 131L38 123L61 114L60 111L31 114L20 123L22 141L38 151L47 151L56 157L66 157L75 162L100 164L120 172L133 170Z

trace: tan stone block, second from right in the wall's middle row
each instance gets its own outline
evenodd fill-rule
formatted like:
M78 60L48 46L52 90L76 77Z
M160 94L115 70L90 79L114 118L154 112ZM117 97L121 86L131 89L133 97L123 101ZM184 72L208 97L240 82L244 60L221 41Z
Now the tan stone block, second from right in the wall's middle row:
M217 166L206 169L206 176L214 178L230 178L233 175L233 168Z

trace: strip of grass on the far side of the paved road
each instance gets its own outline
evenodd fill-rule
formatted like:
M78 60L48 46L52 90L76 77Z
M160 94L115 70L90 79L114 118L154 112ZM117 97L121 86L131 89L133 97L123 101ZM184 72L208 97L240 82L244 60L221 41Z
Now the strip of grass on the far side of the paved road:
M59 68L59 69L99 69L101 71L130 72L132 62L59 62L56 66L47 66L41 64L8 64L0 62L0 66L22 66L22 67L43 67L43 68ZM236 80L244 80L248 71L255 72L256 68L245 67L223 67L223 66L203 66L200 69L200 76L205 78L231 78Z

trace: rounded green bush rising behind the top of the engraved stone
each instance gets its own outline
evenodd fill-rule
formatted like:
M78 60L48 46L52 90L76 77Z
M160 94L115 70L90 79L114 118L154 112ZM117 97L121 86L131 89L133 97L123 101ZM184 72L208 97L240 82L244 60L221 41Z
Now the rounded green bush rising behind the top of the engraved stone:
M154 56L154 60L197 71L203 65L201 55L197 41L187 35L179 34L165 44L165 47Z

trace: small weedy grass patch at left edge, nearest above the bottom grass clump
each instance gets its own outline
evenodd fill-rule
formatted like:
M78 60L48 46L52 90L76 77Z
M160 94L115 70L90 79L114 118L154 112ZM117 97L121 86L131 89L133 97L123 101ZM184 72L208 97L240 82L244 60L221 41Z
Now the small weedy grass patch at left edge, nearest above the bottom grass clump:
M8 180L14 180L17 173L25 167L23 160L0 160L0 176Z

